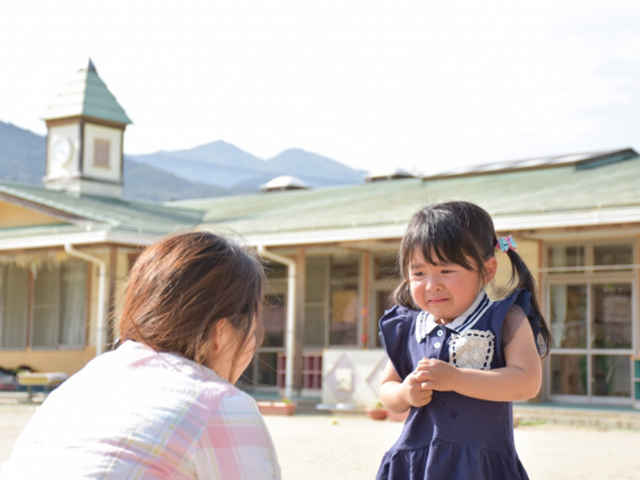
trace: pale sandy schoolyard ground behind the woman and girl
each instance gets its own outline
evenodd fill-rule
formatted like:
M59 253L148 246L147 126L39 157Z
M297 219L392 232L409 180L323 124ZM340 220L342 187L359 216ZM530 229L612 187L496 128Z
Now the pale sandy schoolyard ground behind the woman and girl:
M36 405L0 403L0 462ZM266 416L284 480L371 480L402 425L363 415ZM640 431L536 423L515 430L532 480L638 479Z

